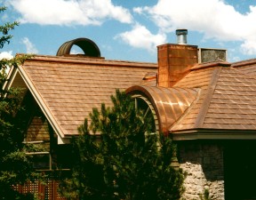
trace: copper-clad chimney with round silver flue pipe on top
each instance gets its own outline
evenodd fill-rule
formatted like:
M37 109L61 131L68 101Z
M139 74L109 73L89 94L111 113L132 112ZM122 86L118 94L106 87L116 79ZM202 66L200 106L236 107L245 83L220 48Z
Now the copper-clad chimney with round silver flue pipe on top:
M157 46L157 85L172 87L198 62L197 46L187 44L187 29L177 29L179 44Z

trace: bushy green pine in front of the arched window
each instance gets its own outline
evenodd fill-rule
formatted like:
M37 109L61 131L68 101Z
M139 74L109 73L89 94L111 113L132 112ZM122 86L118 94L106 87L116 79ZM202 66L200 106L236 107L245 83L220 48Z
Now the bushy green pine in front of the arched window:
M171 167L172 140L154 134L152 118L124 92L117 90L111 100L112 108L102 104L100 111L92 110L90 127L85 119L78 128L80 136L72 142L77 163L64 195L83 200L179 199L184 177Z

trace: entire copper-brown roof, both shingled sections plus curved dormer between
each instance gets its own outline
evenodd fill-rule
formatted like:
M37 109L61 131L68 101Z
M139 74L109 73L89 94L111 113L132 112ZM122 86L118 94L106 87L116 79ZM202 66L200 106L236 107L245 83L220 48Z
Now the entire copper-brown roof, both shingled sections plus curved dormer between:
M154 63L36 56L19 67L20 74L13 72L12 86L26 83L60 138L77 134L92 108L102 102L109 106L116 88L148 93L160 127L176 140L193 134L194 139L216 139L216 133L224 139L227 132L237 139L254 135L256 60L198 64L172 88L156 86L156 70Z

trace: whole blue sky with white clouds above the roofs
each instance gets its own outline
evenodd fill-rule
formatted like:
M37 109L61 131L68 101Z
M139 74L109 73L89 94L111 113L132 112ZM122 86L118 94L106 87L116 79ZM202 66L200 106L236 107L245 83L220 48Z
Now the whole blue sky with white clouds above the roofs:
M61 44L87 37L109 60L156 62L156 46L176 43L228 50L228 61L256 58L256 0L0 0L1 24L20 21L0 57L55 55ZM79 52L73 48L72 52Z

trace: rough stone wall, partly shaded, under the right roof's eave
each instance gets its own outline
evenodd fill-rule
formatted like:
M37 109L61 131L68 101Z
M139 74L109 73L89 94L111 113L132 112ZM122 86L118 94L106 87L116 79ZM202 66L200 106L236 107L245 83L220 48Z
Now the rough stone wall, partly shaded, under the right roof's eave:
M217 142L194 140L180 142L178 149L180 167L187 172L182 198L200 199L208 189L212 200L224 200L223 147Z

